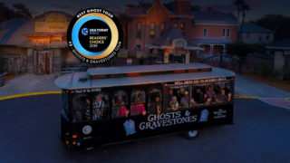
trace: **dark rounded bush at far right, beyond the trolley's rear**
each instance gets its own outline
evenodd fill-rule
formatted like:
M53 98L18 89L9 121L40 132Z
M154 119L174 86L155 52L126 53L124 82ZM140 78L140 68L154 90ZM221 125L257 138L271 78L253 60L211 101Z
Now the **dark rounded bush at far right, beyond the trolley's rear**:
M262 62L257 67L257 72L262 78L275 80L280 75L280 72L276 71L270 64Z

